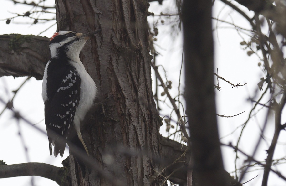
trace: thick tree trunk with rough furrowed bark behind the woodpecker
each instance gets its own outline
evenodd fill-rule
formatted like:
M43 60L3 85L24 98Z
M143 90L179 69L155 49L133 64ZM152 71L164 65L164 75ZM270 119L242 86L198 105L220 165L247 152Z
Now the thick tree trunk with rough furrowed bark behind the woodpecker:
M114 179L118 185L155 185L152 156L160 156L162 122L152 95L148 3L56 0L56 9L58 31L102 29L87 41L80 59L96 82L98 100L113 96L82 127L90 156L112 177L92 171L82 179L70 158L73 185L111 185Z

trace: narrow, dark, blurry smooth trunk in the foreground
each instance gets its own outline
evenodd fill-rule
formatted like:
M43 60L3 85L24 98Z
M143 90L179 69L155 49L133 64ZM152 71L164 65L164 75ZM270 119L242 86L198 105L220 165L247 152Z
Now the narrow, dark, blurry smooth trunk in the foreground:
M183 1L185 98L196 186L227 185L217 128L212 1Z

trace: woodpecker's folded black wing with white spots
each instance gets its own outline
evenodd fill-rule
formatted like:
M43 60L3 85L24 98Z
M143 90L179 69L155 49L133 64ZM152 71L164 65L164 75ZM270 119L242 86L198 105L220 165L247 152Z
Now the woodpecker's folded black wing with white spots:
M57 135L67 140L69 129L74 127L74 115L80 101L80 77L72 65L51 60L47 68L47 97L45 124L50 155L53 144L55 157L58 154L62 157L66 143L60 141Z

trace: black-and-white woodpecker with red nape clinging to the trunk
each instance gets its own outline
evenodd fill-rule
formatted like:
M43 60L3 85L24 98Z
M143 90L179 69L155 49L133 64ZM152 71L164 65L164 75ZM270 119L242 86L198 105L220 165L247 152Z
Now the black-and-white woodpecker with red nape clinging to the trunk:
M63 157L65 143L58 136L88 153L80 133L80 122L91 108L97 89L80 61L79 54L86 40L100 31L85 34L59 31L50 39L51 59L45 66L42 87L50 156L53 145L54 156L60 154ZM80 165L81 160L77 157L76 160Z

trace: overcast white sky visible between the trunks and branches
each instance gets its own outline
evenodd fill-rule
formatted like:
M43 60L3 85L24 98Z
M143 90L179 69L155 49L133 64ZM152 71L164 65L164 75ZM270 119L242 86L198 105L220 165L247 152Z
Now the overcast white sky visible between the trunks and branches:
M29 1L27 1L29 2ZM45 5L53 5L54 1L47 0ZM171 0L164 0L163 6L158 5L157 2L150 3L149 8L150 12L154 12L155 15L159 15L160 12L163 13L174 13L174 9L166 10L168 5L174 7L174 4ZM31 7L27 5L14 5L9 0L1 0L0 6L0 19L5 19L7 17L13 17L12 13L25 13L30 11ZM244 9L247 11L247 9ZM55 16L53 14L51 17ZM229 7L223 5L220 1L215 1L215 8L213 12L214 17L219 17L219 19L227 20L249 29L250 25L245 21L245 19L237 14L235 11ZM148 18L149 23L153 23L153 20L156 20L156 16L153 19L152 17ZM167 71L168 80L172 81L172 96L176 96L178 91L175 87L178 86L178 74L180 71L181 64L181 55L182 55L182 34L179 32L176 37L174 37L174 32L169 28L170 22L172 22L167 17L162 17L164 19L164 25L161 23L158 24L159 34L156 37L157 41L155 42L156 50L162 54L157 57L157 64L164 65L164 68ZM9 25L4 21L0 21L0 34L10 34L10 33L20 33L23 35L33 34L38 35L41 31L45 30L47 27L55 23L55 21L49 21L48 23L42 24L38 23L36 25L32 24L16 24L19 22L29 21L23 17L13 20ZM261 68L257 65L260 61L257 56L247 56L246 50L243 50L243 46L239 43L243 39L238 35L237 31L227 24L217 23L214 21L214 28L218 27L214 31L215 39L215 69L218 68L219 75L229 80L233 84L237 83L247 83L247 85L239 88L232 88L226 82L222 80L219 81L220 86L222 87L221 92L215 90L216 92L216 103L217 103L217 114L225 114L226 116L232 116L243 112L245 113L236 116L234 118L221 118L218 117L219 121L219 132L220 136L226 136L234 131L238 126L243 124L249 115L252 104L247 101L249 97L256 95L257 83L259 79L263 77L263 72ZM56 26L53 26L47 32L41 34L41 36L51 37L53 32L56 31ZM170 34L173 33L173 34ZM246 33L249 33L246 31ZM242 36L249 41L247 35L242 34ZM153 82L155 77L152 76ZM0 96L1 98L8 100L13 96L12 90L15 90L19 85L25 80L23 78L13 78L13 77L2 77L0 78ZM184 80L181 80L183 83ZM17 93L17 96L14 100L14 107L16 110L19 110L23 116L28 118L32 123L37 123L37 126L45 130L44 119L44 104L41 99L41 83L42 81L37 81L35 78L31 78ZM216 83L216 81L215 81ZM154 90L154 89L153 89ZM181 91L184 90L184 86L181 86ZM161 90L162 91L162 90ZM258 92L260 95L261 92ZM164 97L162 97L164 99ZM255 97L257 100L257 97ZM264 100L265 101L265 100ZM161 105L162 107L162 105ZM0 112L3 109L3 105L0 104ZM257 111L257 110L256 110ZM164 108L161 115L167 115L170 113L168 108ZM253 147L257 143L258 136L260 134L260 128L265 119L265 111L260 111L255 117L251 119L249 124L246 127L245 133L243 133L243 138L241 141L241 149L243 149L249 155L253 152ZM285 119L285 117L283 117ZM176 118L175 118L176 119ZM49 163L55 166L61 166L61 162L64 158L68 156L68 151L65 151L64 157L49 157L48 141L47 136L40 134L32 127L27 124L20 122L21 126L21 135L24 136L25 145L28 148L29 159L31 162L43 162ZM165 131L165 126L162 126L161 133L164 136L168 136ZM266 145L269 145L272 139L273 127L267 127L267 134L265 134L266 141L263 141L261 147L258 150L257 159L263 161L266 158L265 150L267 149ZM232 135L229 135L222 139L223 143L232 142L236 144L237 138L240 134L240 130L237 130ZM286 146L285 146L285 131L281 131L279 138L279 145L275 151L275 158L285 157ZM21 139L18 135L17 122L12 118L11 112L6 110L3 115L0 116L0 160L4 160L7 164L17 164L25 163L27 159L25 157L23 145ZM228 172L235 170L234 167L234 158L235 154L232 149L223 147L223 157L225 163L225 169ZM243 161L246 158L243 155L240 155L238 167L240 167ZM276 167L275 167L276 168ZM284 169L283 169L284 168ZM279 168L282 174L285 174L285 166ZM261 179L263 172L261 170L253 171L248 173L244 181L247 181L256 175L259 176L253 181L245 184L250 185L261 185ZM284 181L281 181L276 175L271 174L269 181L269 186L274 185L285 185ZM16 177L16 178L7 178L0 179L0 185L30 185L30 177ZM54 181L49 179L35 177L35 185L57 185Z

